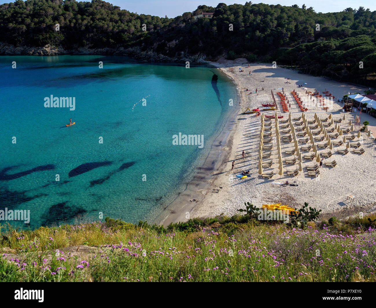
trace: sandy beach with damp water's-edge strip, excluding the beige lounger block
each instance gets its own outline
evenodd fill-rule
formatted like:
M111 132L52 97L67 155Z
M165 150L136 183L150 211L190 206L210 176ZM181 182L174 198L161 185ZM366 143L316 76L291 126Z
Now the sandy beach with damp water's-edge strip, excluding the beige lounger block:
M376 198L376 190L371 188L371 186L376 188L376 176L373 175L376 173L376 167L374 164L370 165L371 160L373 159L372 154L374 153L374 150L372 149L374 140L370 140L367 137L364 138L364 144L362 144L362 147L364 147L366 153L360 156L353 153L340 156L335 153L335 150L338 150L338 148L334 148L332 152L334 152L335 155L332 156L332 159L335 159L338 162L338 165L335 168L332 168L332 170L321 168L321 179L311 179L305 175L293 178L291 176L285 176L284 174L284 176L281 177L277 174L274 175L271 180L263 180L259 179L257 174L258 139L256 139L256 136L259 135L259 118L255 121L255 117L252 117L252 115L244 115L246 119L242 116L243 111L247 107L256 108L261 105L261 102L270 101L270 90L274 90L275 94L276 91L278 91L276 88L284 87L287 96L290 94L290 91L293 91L293 89L299 91L300 89L297 88L297 84L299 83L298 80L307 80L307 87L309 86L307 91L317 88L321 93L321 91L324 90L323 86L325 85L329 90L334 89L333 93L336 96L335 101L337 98L342 98L342 96L347 94L348 91L352 93L364 93L365 89L361 89L356 85L341 84L335 80L327 80L325 77L299 74L297 71L289 70L287 68L277 67L277 70L273 71L274 69L271 68L271 65L257 63L251 64L250 70L252 71L252 75L249 76L246 74L247 68L244 67L244 65L247 64L249 64L249 62L247 62L246 59L236 59L233 61L223 59L222 61L211 62L211 65L219 68L229 77L229 79L232 80L235 87L238 88L238 93L243 90L243 87L251 87L253 89L253 87L261 88L262 85L265 85L265 92L259 91L258 96L249 95L248 97L242 94L243 92L240 92L242 102L241 111L237 114L236 125L226 140L226 145L224 146L226 148L226 153L221 158L221 162L217 162L218 167L213 169L211 178L206 181L207 188L202 190L199 189L200 187L197 187L196 194L194 194L193 197L198 200L198 202L176 206L173 209L174 212L162 221L163 225L168 225L170 222L187 221L188 218L186 217L213 217L221 214L231 216L239 214L237 209L241 208L245 201L252 201L258 207L263 203L280 202L293 207L300 207L304 202L308 202L310 206L323 210L321 212L322 219L329 218L331 215L336 215L338 218L345 218L352 216L357 212L376 211L376 202L373 202ZM238 67L243 67L243 74L238 72L235 74L237 71L235 68L237 69ZM271 71L273 71L273 73L271 73ZM283 75L291 77L291 80L289 80L291 84L283 84L283 82L285 82L284 77L282 77ZM247 80L247 76L251 77L250 80ZM258 78L258 76L260 77ZM254 80L255 77L259 80ZM262 80L265 82L262 84L258 83L258 81L263 82ZM312 82L309 82L308 80L311 80ZM294 81L296 81L296 84ZM302 96L303 91L300 91L299 94ZM295 106L294 101L291 100L292 97L288 98L291 103L291 113L293 114L296 112L294 115L297 115L298 113L301 114L300 111L296 110L297 108L294 110ZM278 104L277 100L277 105ZM331 112L333 117L338 118L339 114L341 114L340 116L342 117L342 105L337 102L334 102L333 105L334 107ZM279 108L277 112L281 113L282 111ZM306 112L307 118L313 118L315 112L317 112L319 117L322 117L325 114L329 115L329 112L326 113L322 109L308 110ZM288 115L288 113L285 115ZM346 112L346 123L349 119L355 123L355 115L359 115L357 110L354 110L351 113ZM246 122L249 122L249 120L251 120L251 122L247 125ZM361 122L364 120L368 120L370 125L376 125L376 120L368 114L361 115ZM341 126L346 126L346 124L341 124ZM355 134L356 133L357 131ZM361 134L362 137L366 135L364 132ZM255 142L252 141L252 135L255 135ZM354 139L354 141L356 140L357 138ZM243 159L241 158L242 149L237 147L237 145L245 143L249 145L242 146L246 151L246 158ZM328 160L330 161L332 159ZM235 167L233 170L235 172L230 171L230 162L232 160L235 160ZM349 163L347 160L351 162ZM354 169L356 173L355 176L352 177L351 172L347 169L349 165L353 167L356 166L358 161L361 167ZM311 161L309 162L311 164L314 163ZM293 167L294 166L284 164L284 170ZM250 176L247 179L240 181L237 178L233 178L236 173L240 173L240 170L247 169L251 171ZM302 173L304 173L304 170ZM355 178L356 181L354 181ZM286 190L283 190L279 185L271 185L274 181L278 182L286 180L290 183L296 181L299 188L288 187ZM341 184L341 181L346 185ZM354 182L357 182L360 187L354 185ZM364 190L362 189L364 186L370 188ZM354 194L356 196L355 201L352 203L346 201L347 194ZM185 212L189 212L189 216L186 216Z

